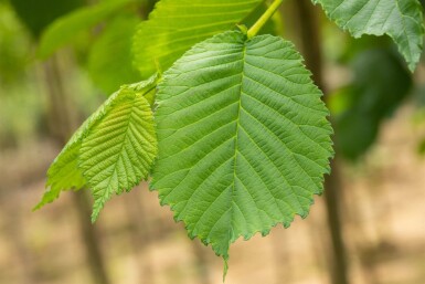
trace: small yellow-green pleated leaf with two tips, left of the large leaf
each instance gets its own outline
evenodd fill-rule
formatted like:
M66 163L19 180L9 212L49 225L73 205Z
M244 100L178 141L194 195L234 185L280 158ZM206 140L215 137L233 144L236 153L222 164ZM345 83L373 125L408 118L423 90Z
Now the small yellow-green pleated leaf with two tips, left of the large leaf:
M63 190L88 185L95 196L95 220L111 193L130 190L148 177L157 152L150 109L156 84L157 76L152 76L123 86L88 117L51 165L49 190L34 209L52 202Z

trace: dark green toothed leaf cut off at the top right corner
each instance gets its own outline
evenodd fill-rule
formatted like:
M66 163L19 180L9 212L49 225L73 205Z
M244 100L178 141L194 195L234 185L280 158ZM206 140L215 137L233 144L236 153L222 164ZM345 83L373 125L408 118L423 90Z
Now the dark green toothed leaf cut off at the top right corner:
M423 50L424 25L417 0L312 0L343 30L362 34L390 35L414 71Z

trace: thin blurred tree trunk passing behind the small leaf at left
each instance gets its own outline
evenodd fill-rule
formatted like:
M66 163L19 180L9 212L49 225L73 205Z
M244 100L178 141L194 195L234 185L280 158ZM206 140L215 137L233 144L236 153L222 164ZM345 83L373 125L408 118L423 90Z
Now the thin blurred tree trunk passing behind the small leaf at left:
M49 96L49 126L55 140L64 146L71 135L77 128L76 107L73 107L73 101L66 92L62 81L62 66L59 62L59 55L52 56L44 63L45 84ZM93 276L93 283L109 284L105 263L100 253L100 245L96 234L96 227L91 223L91 204L85 190L74 192L74 204L78 214L78 225L82 240L85 245L85 254L89 270Z

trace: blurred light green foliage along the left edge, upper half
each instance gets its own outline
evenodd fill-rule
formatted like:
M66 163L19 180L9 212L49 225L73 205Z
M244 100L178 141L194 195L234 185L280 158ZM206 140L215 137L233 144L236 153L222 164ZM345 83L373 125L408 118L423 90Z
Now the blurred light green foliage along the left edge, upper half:
M43 99L31 74L31 35L10 4L0 2L0 148L17 147L40 132Z

